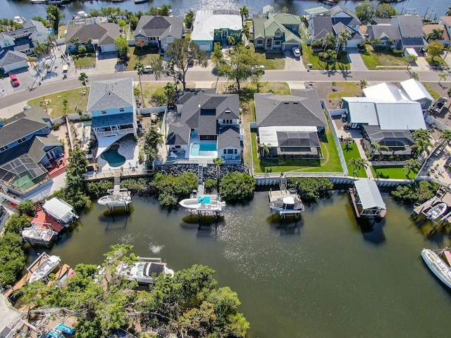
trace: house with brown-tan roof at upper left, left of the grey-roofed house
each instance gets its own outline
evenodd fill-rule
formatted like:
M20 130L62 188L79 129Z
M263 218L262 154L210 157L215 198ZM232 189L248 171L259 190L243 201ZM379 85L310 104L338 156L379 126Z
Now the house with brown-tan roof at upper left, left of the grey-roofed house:
M77 51L83 44L87 50L100 52L117 51L114 39L121 36L117 23L108 23L103 18L82 18L70 20L66 34L66 48L69 53Z

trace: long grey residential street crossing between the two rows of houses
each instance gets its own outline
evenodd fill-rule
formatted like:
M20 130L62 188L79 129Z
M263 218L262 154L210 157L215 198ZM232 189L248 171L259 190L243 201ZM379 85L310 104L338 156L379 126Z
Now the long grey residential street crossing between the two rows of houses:
M416 72L421 81L438 82L440 77L438 70L427 70ZM89 81L109 80L132 76L135 81L138 81L138 76L135 71L110 73L101 75L90 75ZM310 71L285 71L285 70L266 70L266 73L261 78L262 81L285 81L285 82L330 82L330 81L351 81L359 82L366 80L368 82L399 82L408 80L410 73L408 70L362 70L362 71L333 71L333 70L310 70ZM147 79L154 79L149 75ZM216 82L218 77L211 73L210 70L188 70L187 82ZM172 81L171 78L162 78L161 82ZM226 81L224 78L219 78L219 81ZM27 89L13 92L2 96L0 99L0 109L34 99L39 96L44 96L54 92L61 92L63 90L74 89L80 87L80 81L76 78L67 80L58 80L54 82L44 83L40 87L33 89L31 92Z

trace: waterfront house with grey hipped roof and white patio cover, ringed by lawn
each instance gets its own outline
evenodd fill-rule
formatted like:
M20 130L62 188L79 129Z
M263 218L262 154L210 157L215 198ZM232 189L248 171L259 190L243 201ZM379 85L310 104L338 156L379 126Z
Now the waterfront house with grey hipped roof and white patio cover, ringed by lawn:
M315 89L291 95L254 94L259 144L270 157L321 158L319 133L327 125Z

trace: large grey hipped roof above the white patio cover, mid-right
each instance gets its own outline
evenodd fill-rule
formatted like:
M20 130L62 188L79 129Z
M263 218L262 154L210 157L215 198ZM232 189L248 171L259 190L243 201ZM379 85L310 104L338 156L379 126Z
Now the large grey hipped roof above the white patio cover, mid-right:
M292 95L254 94L258 127L327 125L315 89L292 90Z

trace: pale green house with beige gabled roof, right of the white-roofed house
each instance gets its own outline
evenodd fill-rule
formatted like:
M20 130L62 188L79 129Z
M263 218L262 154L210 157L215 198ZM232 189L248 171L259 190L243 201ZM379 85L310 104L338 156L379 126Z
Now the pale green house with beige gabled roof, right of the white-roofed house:
M270 13L268 18L253 18L254 46L265 51L285 51L293 47L301 49L302 39L299 15Z

